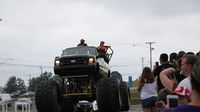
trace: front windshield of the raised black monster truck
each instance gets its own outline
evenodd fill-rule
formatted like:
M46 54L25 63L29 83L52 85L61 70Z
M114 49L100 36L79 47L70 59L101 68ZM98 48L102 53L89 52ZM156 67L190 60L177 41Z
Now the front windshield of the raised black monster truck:
M74 54L91 54L97 55L97 49L94 47L75 47L68 48L63 51L63 55L74 55Z

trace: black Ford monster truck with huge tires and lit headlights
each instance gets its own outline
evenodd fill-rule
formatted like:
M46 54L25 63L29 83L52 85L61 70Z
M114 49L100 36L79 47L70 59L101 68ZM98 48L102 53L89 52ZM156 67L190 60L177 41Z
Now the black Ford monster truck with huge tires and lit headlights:
M36 87L38 112L73 112L81 100L96 100L100 112L128 110L129 88L116 77L121 74L110 73L108 64L112 55L111 48L102 55L93 46L63 50L54 61L56 75L41 81ZM105 61L105 58L108 60Z

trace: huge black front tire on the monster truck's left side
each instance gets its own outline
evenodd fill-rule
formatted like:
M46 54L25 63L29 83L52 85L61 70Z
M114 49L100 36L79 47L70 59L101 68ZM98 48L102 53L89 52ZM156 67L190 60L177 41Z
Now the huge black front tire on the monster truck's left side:
M36 87L35 103L38 112L61 112L61 93L55 81L42 81Z

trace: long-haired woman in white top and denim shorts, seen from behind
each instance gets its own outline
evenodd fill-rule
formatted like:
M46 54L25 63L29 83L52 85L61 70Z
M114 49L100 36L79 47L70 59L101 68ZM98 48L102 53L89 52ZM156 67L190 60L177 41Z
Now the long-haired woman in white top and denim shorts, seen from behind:
M141 103L144 112L156 112L156 81L149 67L145 67L143 69L140 78L140 84L137 90L140 92Z

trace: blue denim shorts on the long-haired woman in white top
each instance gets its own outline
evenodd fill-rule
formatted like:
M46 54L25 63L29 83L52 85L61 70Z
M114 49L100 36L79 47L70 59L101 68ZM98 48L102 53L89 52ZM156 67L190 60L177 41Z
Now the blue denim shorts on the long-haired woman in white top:
M158 101L158 98L156 96L152 96L150 98L143 99L141 101L142 108L154 107L154 106L156 106L155 103L157 101Z

